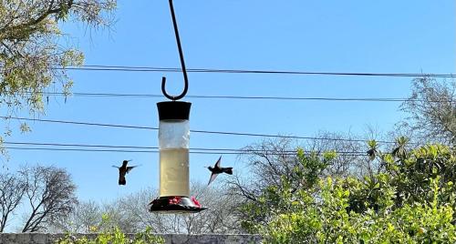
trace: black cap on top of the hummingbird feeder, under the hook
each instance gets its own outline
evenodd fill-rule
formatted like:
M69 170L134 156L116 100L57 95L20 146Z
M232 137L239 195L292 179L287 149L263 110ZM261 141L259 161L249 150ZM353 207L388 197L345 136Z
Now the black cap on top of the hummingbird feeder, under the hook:
M160 120L189 120L192 103L167 101L157 103Z

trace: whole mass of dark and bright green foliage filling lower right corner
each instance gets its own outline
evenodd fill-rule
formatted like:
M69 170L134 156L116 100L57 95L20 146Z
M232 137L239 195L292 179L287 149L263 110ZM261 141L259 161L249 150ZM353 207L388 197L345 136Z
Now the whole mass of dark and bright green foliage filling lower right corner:
M244 206L247 213L270 213L244 226L267 243L455 243L454 151L440 145L408 151L407 141L399 138L394 154L377 156L384 170L365 178L316 177L325 158L301 151L300 178L283 178ZM294 180L316 183L291 188Z

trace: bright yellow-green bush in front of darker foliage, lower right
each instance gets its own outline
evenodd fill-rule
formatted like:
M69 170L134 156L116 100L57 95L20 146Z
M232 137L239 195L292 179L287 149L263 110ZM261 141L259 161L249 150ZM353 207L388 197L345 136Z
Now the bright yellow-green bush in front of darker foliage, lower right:
M434 201L394 208L385 194L379 211L368 208L360 214L347 211L349 190L331 178L321 182L321 199L283 213L265 227L258 227L267 243L454 243L453 208L438 201L437 180L433 180ZM394 193L391 191L390 193Z

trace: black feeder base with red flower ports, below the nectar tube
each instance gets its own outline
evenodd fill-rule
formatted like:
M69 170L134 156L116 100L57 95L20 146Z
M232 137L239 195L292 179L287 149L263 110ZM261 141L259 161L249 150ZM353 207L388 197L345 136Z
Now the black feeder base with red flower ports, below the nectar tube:
M187 197L161 197L150 202L150 212L157 213L197 213L206 208L195 204Z

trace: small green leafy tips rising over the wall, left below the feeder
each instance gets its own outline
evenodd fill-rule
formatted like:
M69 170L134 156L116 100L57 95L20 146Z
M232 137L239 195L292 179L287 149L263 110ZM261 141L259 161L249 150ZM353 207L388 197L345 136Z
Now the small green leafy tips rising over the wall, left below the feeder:
M97 232L99 229L104 229L98 233L94 239L88 239L87 237L76 237L75 235L67 234L64 239L58 239L57 244L162 244L165 240L161 237L157 237L150 233L150 228L145 229L142 232L135 234L133 239L129 239L125 233L123 233L119 227L109 227L110 220L108 215L102 216L102 221L99 226L91 228L93 232Z

